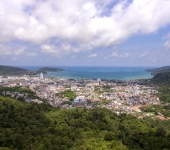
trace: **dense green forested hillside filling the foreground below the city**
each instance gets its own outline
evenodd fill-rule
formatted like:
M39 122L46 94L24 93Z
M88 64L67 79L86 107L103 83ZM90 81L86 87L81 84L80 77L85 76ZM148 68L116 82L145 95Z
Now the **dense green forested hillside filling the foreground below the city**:
M0 96L0 149L170 149L170 121L107 109L56 109ZM3 147L3 148L2 148Z

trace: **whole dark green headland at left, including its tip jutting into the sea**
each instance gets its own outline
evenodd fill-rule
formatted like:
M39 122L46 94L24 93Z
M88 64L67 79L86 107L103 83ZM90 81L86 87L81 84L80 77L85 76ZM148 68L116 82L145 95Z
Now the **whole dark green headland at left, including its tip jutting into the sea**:
M0 65L0 75L3 76L4 75L17 75L17 76L38 75L39 73L46 74L47 72L58 72L58 71L64 71L64 70L60 68L43 67L36 71L36 70L28 70L28 69L13 67L13 66Z

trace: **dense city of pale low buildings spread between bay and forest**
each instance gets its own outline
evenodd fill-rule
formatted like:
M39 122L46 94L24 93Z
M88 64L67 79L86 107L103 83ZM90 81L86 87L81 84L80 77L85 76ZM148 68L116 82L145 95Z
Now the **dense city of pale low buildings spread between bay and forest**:
M29 87L37 96L30 98L27 93L3 91L3 95L23 98L26 102L43 103L45 100L53 107L73 109L107 108L117 113L127 113L143 118L151 116L164 120L164 115L159 113L145 113L142 107L160 105L160 99L156 96L158 91L154 86L146 86L149 80L116 81L91 79L59 79L44 78L39 76L1 76L0 85L5 87ZM71 93L73 96L67 96Z

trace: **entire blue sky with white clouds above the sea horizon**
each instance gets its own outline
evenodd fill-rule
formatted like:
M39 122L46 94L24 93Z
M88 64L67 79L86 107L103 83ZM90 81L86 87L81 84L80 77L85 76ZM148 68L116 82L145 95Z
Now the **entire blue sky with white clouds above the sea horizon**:
M0 65L170 65L170 0L0 0Z

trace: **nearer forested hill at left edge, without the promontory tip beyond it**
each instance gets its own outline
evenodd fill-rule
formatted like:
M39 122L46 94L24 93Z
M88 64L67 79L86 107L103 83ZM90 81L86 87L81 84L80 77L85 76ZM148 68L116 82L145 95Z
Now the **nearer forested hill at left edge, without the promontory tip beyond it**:
M22 69L12 66L0 65L0 75L36 75L37 72L33 70Z

